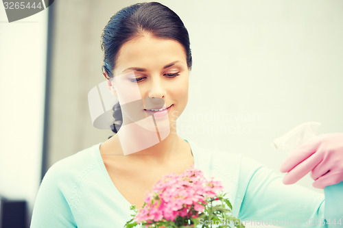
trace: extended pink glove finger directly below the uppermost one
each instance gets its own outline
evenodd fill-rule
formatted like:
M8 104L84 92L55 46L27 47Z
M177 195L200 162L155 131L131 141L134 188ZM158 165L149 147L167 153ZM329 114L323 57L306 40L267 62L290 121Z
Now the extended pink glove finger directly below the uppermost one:
M292 168L285 177L283 177L283 183L291 184L296 183L299 179L303 178L309 171L317 166L322 161L322 155L320 153L314 153L306 160Z

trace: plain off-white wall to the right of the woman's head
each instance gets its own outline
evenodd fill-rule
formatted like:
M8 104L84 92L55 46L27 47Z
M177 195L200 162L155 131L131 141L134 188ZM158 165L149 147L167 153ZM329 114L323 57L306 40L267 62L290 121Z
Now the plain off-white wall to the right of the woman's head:
M279 170L287 154L274 138L307 121L321 122L320 134L343 131L343 1L161 3L191 38L184 138ZM193 121L196 114L207 121ZM221 114L226 120L215 120ZM308 176L299 183L313 188Z

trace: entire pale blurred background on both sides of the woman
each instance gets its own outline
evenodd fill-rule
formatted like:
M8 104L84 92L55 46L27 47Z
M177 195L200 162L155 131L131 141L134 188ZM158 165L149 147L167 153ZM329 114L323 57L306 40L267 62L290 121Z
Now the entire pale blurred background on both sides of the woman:
M112 135L93 127L87 94L104 81L102 29L137 2L57 0L13 23L0 6L0 196L27 202L27 224L47 169ZM343 131L343 1L159 2L191 38L182 138L279 172L274 138L307 121ZM322 192L311 183L298 182Z

